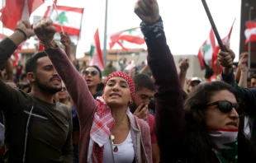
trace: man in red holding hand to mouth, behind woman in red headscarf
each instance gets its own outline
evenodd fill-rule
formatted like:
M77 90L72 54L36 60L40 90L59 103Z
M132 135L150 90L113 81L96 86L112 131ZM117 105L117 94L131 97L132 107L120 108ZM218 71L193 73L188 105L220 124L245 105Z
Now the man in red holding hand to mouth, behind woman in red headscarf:
M133 77L135 82L135 98L130 105L130 112L137 116L139 119L145 119L149 123L152 158L153 162L159 162L159 146L154 134L154 116L149 114L148 106L150 100L154 96L154 83L151 78L144 74L139 73Z

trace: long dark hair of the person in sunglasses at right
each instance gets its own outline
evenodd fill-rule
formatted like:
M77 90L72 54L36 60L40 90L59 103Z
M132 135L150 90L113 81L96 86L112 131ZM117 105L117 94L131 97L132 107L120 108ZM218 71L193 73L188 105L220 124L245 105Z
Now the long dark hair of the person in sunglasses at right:
M204 106L211 102L212 96L216 94L217 91L224 90L230 91L230 93L235 95L236 100L239 101L235 89L223 81L201 83L195 91L188 95L184 103L188 127L188 133L184 139L187 160L203 163L219 162L215 153L212 151L214 144L211 143L207 133ZM239 142L243 144L246 143L250 146L248 150L250 153L249 156L255 156L256 150L254 150L254 145L246 139L243 129L239 129ZM244 148L243 146L239 146L239 151L241 151L241 148ZM243 154L239 155L238 158L240 156L243 157Z

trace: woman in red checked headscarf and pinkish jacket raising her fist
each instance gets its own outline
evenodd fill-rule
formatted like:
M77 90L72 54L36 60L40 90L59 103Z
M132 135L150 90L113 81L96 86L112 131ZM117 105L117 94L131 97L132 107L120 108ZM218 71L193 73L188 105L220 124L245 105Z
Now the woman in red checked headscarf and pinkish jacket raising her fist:
M132 79L125 72L112 72L102 97L94 100L86 81L53 40L52 21L43 19L34 30L78 111L79 162L152 162L149 125L128 108L135 94Z

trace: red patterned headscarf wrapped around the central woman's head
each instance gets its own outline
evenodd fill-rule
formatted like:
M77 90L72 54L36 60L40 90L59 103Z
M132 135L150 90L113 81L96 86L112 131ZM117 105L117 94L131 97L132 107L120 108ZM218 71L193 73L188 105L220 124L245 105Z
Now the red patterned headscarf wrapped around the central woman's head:
M130 76L127 75L126 72L112 72L111 74L109 74L109 76L107 77L107 79L106 79L106 81L105 81L104 87L106 86L107 81L108 81L111 77L122 77L122 78L124 78L124 79L128 82L128 85L129 85L129 88L130 88L130 96L131 96L131 99L134 99L134 97L135 97L135 83L134 83L133 80L130 78Z

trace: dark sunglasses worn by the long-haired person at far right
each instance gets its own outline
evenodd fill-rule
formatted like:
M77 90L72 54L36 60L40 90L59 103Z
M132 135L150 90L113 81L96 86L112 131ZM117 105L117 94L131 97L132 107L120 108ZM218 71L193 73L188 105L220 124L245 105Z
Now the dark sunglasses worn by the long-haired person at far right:
M235 108L235 111L239 115L243 114L243 112L244 112L242 109L240 109L238 103L232 104L230 101L227 101L227 100L218 100L216 102L207 104L206 106L212 106L212 105L217 105L222 113L230 113L230 111L233 108Z

